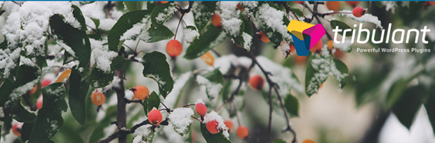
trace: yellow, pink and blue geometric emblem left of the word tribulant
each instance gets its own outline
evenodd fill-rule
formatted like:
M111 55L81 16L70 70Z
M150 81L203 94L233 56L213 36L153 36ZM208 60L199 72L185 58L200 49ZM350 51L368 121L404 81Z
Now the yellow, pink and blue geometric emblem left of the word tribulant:
M297 56L308 56L309 50L325 35L322 24L309 24L291 20L287 30L290 31L295 44Z

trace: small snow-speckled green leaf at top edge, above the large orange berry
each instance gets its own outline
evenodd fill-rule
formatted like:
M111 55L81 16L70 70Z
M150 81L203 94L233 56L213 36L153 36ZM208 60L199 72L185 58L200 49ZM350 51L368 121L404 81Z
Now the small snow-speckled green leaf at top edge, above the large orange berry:
M152 26L157 27L167 20L175 13L175 3L169 1L168 3L158 4L151 13Z

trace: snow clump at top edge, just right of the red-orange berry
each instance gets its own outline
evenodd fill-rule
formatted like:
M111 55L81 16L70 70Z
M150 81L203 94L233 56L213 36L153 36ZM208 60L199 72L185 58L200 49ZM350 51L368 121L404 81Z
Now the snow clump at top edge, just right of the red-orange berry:
M222 28L232 37L239 36L242 21L237 10L238 1L220 1Z

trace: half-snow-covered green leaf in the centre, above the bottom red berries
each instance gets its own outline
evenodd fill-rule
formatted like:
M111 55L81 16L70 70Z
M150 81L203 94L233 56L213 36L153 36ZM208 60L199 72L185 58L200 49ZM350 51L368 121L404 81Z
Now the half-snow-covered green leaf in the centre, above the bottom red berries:
M215 68L213 71L197 76L196 81L206 86L207 96L210 100L213 100L222 92L224 77L222 73L220 73L219 68Z

